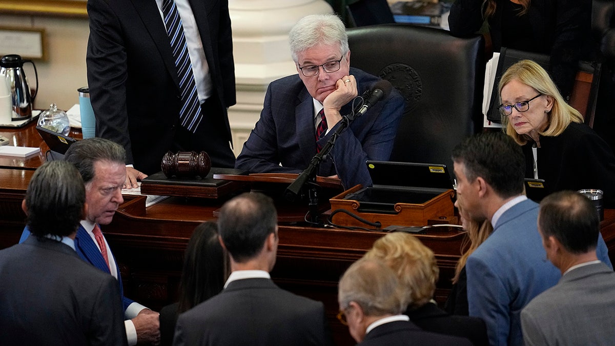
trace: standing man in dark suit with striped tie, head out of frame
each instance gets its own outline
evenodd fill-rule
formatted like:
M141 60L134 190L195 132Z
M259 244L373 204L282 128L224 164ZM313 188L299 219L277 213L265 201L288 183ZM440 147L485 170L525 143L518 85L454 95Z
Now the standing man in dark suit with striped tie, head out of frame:
M235 163L226 112L236 102L228 0L175 2L203 115L194 133L180 126L180 77L163 0L87 2L87 75L96 135L125 148L127 164L134 164L127 169L133 187L136 179L160 171L169 150L207 151L214 167Z

